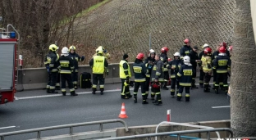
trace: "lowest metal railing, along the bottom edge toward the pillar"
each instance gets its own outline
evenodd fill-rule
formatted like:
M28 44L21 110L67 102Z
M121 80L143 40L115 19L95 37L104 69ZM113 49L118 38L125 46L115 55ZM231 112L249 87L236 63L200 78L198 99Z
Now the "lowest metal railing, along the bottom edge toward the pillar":
M101 140L121 140L121 139L134 139L134 138L148 138L156 137L156 136L167 136L171 134L177 134L177 140L181 140L181 134L185 133L210 133L214 131L227 131L231 133L231 138L233 138L233 131L228 128L217 128L217 129L194 129L194 130L183 130L183 131L174 131L174 132L165 132L165 133L147 133L147 134L140 134L140 135L133 135L133 136L124 136L124 137L117 137L117 138L103 138ZM207 139L210 139L210 135L208 134Z

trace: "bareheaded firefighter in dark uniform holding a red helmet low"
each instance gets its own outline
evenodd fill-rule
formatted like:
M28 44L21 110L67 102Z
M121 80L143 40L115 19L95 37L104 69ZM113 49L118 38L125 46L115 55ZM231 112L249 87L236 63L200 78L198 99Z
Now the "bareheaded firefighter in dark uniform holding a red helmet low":
M153 65L153 70L151 73L151 90L154 94L151 94L151 99L154 100L154 96L157 95L154 105L162 105L160 84L164 81L164 64L160 59L160 55L155 56L155 63Z

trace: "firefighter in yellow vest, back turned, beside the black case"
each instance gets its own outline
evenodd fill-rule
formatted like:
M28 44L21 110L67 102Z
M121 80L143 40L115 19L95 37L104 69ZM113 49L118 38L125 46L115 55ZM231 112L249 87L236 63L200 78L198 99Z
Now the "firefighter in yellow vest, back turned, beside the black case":
M89 61L89 66L91 66L93 69L93 92L92 93L93 94L96 93L97 84L99 81L100 94L103 95L104 83L105 83L104 72L107 69L108 63L107 63L107 59L103 56L102 48L98 48L96 52L97 52L97 56L94 56Z

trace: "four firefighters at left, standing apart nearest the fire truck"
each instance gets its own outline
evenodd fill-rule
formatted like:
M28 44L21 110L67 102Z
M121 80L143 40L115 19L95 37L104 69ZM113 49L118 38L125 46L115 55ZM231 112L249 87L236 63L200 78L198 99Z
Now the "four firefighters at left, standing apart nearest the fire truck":
M79 56L75 52L75 46L69 48L63 47L62 54L57 54L58 47L55 44L49 46L49 52L45 56L44 65L48 70L48 84L46 87L47 93L58 93L56 90L62 90L62 95L66 96L66 83L70 89L71 96L77 96L78 81L78 62L84 61L85 56ZM107 60L109 53L104 47L100 46L96 49L96 54L89 61L89 65L93 70L93 93L95 94L99 81L100 91L103 95L104 91L104 74L108 75ZM60 87L60 79L62 86Z

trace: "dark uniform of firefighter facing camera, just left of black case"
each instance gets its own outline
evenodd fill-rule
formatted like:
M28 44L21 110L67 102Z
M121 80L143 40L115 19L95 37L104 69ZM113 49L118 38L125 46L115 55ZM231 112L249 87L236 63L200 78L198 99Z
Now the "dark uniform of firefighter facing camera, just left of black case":
M84 61L81 59L81 57L77 53L69 53L69 56L74 61L75 69L72 71L72 81L74 84L74 87L77 88L77 81L78 81L78 61Z

